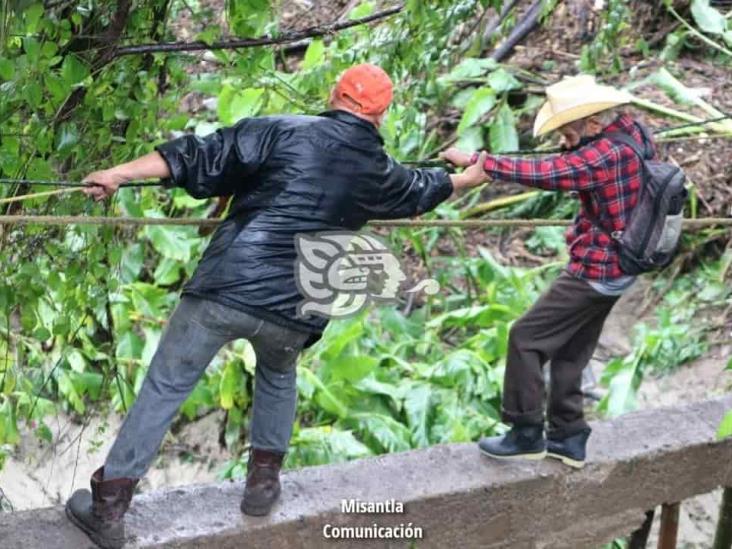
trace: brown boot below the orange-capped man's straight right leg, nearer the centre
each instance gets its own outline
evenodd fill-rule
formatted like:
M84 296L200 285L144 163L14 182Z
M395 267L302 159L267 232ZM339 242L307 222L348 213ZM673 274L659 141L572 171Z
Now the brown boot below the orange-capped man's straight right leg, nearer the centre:
M280 468L284 454L257 450L249 452L247 484L241 510L244 514L261 517L268 515L280 497Z

